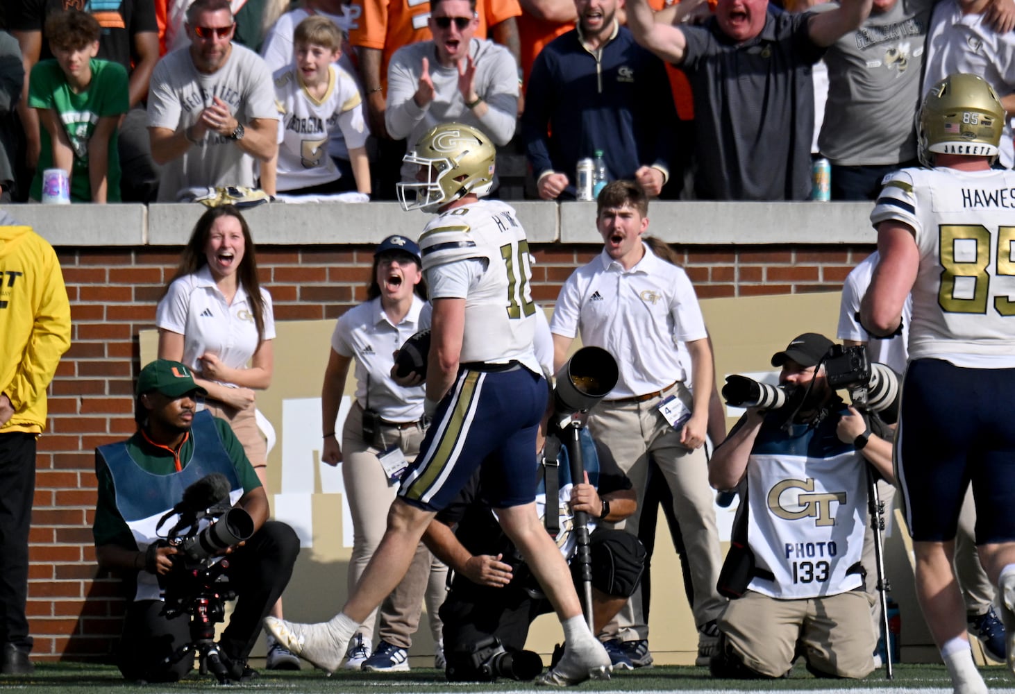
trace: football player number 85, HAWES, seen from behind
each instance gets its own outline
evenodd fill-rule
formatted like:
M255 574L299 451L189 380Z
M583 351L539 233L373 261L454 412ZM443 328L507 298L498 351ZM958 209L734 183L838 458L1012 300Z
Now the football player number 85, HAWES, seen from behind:
M871 221L881 260L861 306L896 332L912 293L895 465L917 555L917 594L956 692L986 692L952 572L966 487L980 561L1002 597L1015 665L1015 172L994 169L1005 110L983 78L953 74L924 98L920 158L885 179Z

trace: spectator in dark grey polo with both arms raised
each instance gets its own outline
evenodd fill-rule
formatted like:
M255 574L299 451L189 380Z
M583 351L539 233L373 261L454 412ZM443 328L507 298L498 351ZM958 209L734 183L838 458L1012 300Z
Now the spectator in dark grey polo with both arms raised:
M811 66L860 26L872 0L820 13L770 10L768 0L719 0L701 26L655 22L627 3L637 42L687 73L694 95L701 200L807 200L811 193Z

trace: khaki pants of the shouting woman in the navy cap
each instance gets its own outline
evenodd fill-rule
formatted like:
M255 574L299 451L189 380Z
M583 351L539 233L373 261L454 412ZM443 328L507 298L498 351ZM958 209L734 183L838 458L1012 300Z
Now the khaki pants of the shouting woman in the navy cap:
M409 462L419 453L419 444L423 440L423 430L419 427L399 429L382 425L379 445L371 445L363 441L362 418L362 408L358 403L353 404L342 428L342 480L352 514L352 556L348 573L350 595L384 537L388 528L388 509L398 492L397 484L388 484L388 477L378 460L382 445L380 440L383 438L385 447L397 445ZM380 637L401 648L412 645L412 634L419 628L425 598L430 632L435 642L441 641L437 610L444 603L447 577L448 567L420 543L405 578L381 605ZM373 640L377 614L375 610L359 628L366 640Z

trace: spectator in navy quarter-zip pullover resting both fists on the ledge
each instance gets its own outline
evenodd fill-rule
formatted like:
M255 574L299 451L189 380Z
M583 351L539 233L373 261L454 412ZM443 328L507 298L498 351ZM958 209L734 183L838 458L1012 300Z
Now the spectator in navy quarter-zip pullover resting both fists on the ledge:
M540 52L522 132L543 200L573 200L579 159L602 151L607 179L659 196L670 176L676 109L663 62L617 20L620 0L574 0L578 26Z

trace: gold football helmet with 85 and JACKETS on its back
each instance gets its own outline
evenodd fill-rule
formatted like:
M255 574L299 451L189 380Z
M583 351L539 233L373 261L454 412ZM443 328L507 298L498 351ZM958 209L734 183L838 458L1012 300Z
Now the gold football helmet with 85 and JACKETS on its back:
M994 88L976 75L955 73L931 87L917 115L920 162L934 166L934 152L998 158L1005 110Z

